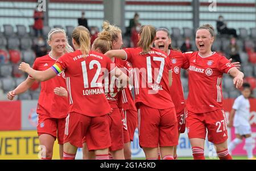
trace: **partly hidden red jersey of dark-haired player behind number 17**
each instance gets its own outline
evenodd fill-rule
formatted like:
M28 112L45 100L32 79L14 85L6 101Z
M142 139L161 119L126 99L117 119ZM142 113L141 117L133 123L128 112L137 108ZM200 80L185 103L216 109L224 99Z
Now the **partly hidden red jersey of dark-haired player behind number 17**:
M188 59L184 57L183 53L176 50L170 50L168 56L172 65L171 97L174 99L176 113L179 113L185 108L183 87L180 80L180 69L188 69L189 63Z

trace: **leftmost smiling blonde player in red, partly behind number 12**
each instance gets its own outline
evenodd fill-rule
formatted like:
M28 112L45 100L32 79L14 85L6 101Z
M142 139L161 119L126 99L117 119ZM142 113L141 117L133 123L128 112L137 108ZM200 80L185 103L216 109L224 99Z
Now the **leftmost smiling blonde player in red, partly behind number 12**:
M51 46L51 52L43 57L36 58L33 69L47 70L61 55L73 52L73 49L68 44L65 31L60 28L51 29L48 33L48 44ZM28 76L24 82L7 94L8 99L13 100L14 96L26 92L34 82L35 79ZM41 83L41 92L36 109L36 113L38 113L39 144L42 148L41 159L52 159L53 144L56 137L60 146L60 159L63 158L63 139L65 118L68 114L68 99L55 95L53 93L55 87L66 87L64 73Z

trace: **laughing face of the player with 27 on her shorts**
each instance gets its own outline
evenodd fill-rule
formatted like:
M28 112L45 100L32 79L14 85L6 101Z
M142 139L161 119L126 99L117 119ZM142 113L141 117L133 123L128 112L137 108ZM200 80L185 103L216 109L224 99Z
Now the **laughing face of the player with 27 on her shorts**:
M207 29L199 29L196 32L196 46L200 54L210 53L213 41L214 37Z

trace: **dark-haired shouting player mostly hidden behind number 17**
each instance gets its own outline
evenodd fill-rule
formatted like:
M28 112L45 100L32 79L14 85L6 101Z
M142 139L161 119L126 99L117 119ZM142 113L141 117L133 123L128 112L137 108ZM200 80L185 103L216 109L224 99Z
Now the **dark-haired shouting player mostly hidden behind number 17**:
M158 28L156 30L156 39L154 42L155 48L163 50L168 54L172 66L172 87L171 97L174 100L176 116L177 116L177 129L179 135L185 131L185 100L183 95L183 88L180 80L180 70L187 69L189 63L184 57L183 53L170 49L171 37L167 28ZM174 159L177 159L176 147L174 148Z

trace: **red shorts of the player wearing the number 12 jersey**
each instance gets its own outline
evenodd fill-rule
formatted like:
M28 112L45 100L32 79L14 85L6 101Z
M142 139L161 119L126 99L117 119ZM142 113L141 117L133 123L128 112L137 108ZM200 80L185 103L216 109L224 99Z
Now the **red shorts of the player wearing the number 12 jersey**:
M82 147L85 137L88 150L105 149L111 145L108 116L89 117L71 112L66 118L64 143Z

